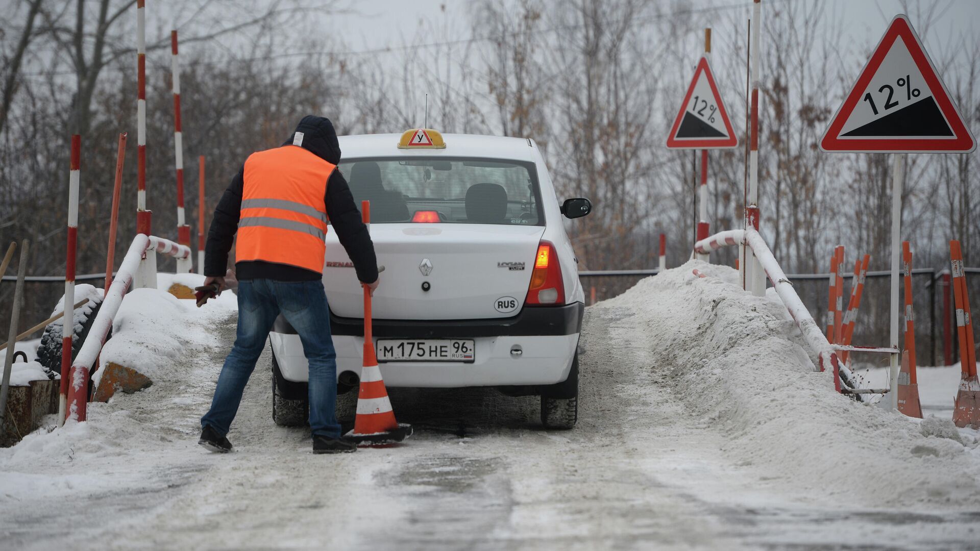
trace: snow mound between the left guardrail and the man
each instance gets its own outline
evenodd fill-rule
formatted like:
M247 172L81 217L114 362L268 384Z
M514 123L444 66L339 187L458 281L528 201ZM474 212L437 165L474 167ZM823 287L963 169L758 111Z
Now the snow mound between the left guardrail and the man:
M193 274L167 276L204 280L202 275ZM125 295L113 323L113 336L102 348L103 365L114 362L153 379L161 370L172 367L188 346L217 345L207 327L223 321L236 309L234 294L222 292L217 299L197 308L193 300L177 299L166 288L133 289ZM100 370L93 376L96 384L101 373Z

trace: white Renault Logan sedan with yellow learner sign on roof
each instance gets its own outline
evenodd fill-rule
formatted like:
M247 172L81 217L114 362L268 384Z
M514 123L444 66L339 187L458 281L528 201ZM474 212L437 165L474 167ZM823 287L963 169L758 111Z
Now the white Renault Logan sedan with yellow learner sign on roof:
M444 139L423 128L339 139L339 170L358 205L370 201L370 235L385 269L372 301L385 384L540 395L545 426L574 426L584 293L563 216L587 215L589 201L559 203L531 139ZM338 394L356 397L364 295L330 231L324 264ZM299 335L280 316L270 341L273 419L305 423Z

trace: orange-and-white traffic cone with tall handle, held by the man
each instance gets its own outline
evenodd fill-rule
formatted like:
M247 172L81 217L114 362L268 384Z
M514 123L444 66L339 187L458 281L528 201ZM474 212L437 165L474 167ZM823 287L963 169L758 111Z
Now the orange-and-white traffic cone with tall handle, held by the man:
M370 221L370 205L362 202L361 213L365 224ZM378 268L382 272L384 267ZM388 399L388 389L381 378L381 370L377 367L377 357L374 355L374 341L371 338L370 289L365 290L365 351L364 366L361 368L361 388L358 394L358 414L354 420L354 429L344 436L359 445L385 445L401 442L412 435L412 426L399 424L395 420L395 412L391 409Z

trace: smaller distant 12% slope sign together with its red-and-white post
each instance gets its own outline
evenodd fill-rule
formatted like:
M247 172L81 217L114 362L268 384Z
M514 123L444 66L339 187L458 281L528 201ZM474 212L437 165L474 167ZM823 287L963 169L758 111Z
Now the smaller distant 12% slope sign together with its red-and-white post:
M721 95L714 83L709 57L711 56L711 28L705 29L705 55L698 62L694 78L687 88L684 101L667 135L668 149L701 150L701 185L699 186L699 222L696 239L707 239L708 223L708 150L738 146L738 137L732 129ZM699 260L708 260L708 254L695 253Z

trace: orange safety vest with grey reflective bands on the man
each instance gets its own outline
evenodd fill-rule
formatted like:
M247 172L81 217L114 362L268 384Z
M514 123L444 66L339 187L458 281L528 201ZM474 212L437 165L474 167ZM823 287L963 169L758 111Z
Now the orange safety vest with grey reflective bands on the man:
M235 262L261 260L322 274L326 181L335 165L295 145L245 161Z

